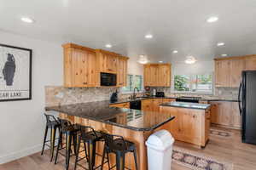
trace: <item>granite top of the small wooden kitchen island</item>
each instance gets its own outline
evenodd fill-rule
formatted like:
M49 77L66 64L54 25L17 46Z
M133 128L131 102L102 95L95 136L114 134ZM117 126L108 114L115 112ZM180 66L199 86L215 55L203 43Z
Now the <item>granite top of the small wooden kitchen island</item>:
M208 107L211 105L208 104L198 104L198 103L189 103L189 102L169 102L161 104L160 106L167 106L167 107L182 107L182 108L189 108L189 109L200 109L200 110L207 110Z

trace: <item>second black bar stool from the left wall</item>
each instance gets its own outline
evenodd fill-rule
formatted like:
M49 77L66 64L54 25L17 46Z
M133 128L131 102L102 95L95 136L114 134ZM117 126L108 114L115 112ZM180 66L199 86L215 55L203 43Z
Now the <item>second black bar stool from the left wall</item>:
M64 148L60 148L61 143L62 143L62 134L65 134L66 136L66 163L65 167L66 170L68 170L69 167L69 160L71 156L71 141L73 139L73 148L74 148L74 153L76 153L76 144L77 144L77 134L79 133L79 127L77 125L73 125L71 122L58 118L58 121L61 123L61 132L60 132L60 138L58 140L58 145L57 145L57 151L56 151L56 156L55 156L55 164L57 163L58 155L59 155L59 150L62 150ZM61 154L61 153L60 153ZM61 154L61 156L64 156Z

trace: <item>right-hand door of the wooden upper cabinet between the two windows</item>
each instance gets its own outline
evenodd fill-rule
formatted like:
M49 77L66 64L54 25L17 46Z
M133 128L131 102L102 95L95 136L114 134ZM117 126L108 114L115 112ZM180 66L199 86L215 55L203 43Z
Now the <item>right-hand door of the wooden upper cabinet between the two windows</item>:
M158 86L168 87L171 85L171 66L170 65L158 65L157 75Z

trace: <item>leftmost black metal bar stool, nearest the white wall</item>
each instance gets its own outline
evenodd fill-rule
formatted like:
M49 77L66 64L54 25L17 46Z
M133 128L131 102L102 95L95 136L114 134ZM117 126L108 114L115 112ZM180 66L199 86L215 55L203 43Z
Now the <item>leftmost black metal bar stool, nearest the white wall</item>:
M61 124L60 124L60 122L58 122L55 119L55 116L48 115L45 113L44 113L44 116L46 118L46 127L45 127L45 131L44 131L44 142L43 142L43 149L41 152L41 156L44 155L44 146L47 145L50 148L50 161L52 161L53 156L54 156L54 150L55 150L56 129L58 128L59 132L60 132ZM49 128L50 128L50 139L46 140ZM48 142L50 142L50 144L46 144Z

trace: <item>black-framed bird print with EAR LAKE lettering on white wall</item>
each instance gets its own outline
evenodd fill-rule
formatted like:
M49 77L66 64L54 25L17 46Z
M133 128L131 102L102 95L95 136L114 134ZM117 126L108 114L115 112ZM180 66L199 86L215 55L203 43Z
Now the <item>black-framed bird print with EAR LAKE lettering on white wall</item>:
M0 44L0 101L32 99L32 49Z

